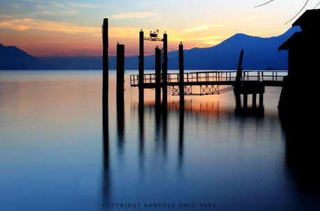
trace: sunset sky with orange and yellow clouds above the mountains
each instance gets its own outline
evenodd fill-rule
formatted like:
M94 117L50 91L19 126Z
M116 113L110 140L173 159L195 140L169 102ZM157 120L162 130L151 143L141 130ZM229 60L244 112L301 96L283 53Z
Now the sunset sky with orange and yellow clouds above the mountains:
M159 29L168 34L168 50L211 47L235 33L271 37L305 0L0 0L0 43L15 45L38 57L102 56L102 22L109 19L109 55L117 42L126 56L138 54L138 34ZM305 9L317 6L310 0ZM317 6L320 8L320 6ZM303 13L303 12L302 12ZM301 13L301 14L302 14ZM161 42L145 42L145 55Z

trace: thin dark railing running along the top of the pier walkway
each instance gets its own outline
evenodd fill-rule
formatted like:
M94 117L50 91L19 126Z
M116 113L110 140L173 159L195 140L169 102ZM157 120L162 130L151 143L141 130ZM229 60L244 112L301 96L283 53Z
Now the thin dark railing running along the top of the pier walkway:
M287 75L287 71L279 70L265 70L265 71L243 71L241 81L282 81L283 77ZM206 71L206 72L184 72L184 83L189 82L214 82L214 81L230 81L236 80L237 71ZM163 81L161 75L161 83ZM167 84L179 83L179 73L168 73ZM139 75L130 75L131 86L138 86ZM144 84L155 84L156 75L145 74L143 75ZM232 83L230 83L232 84Z

